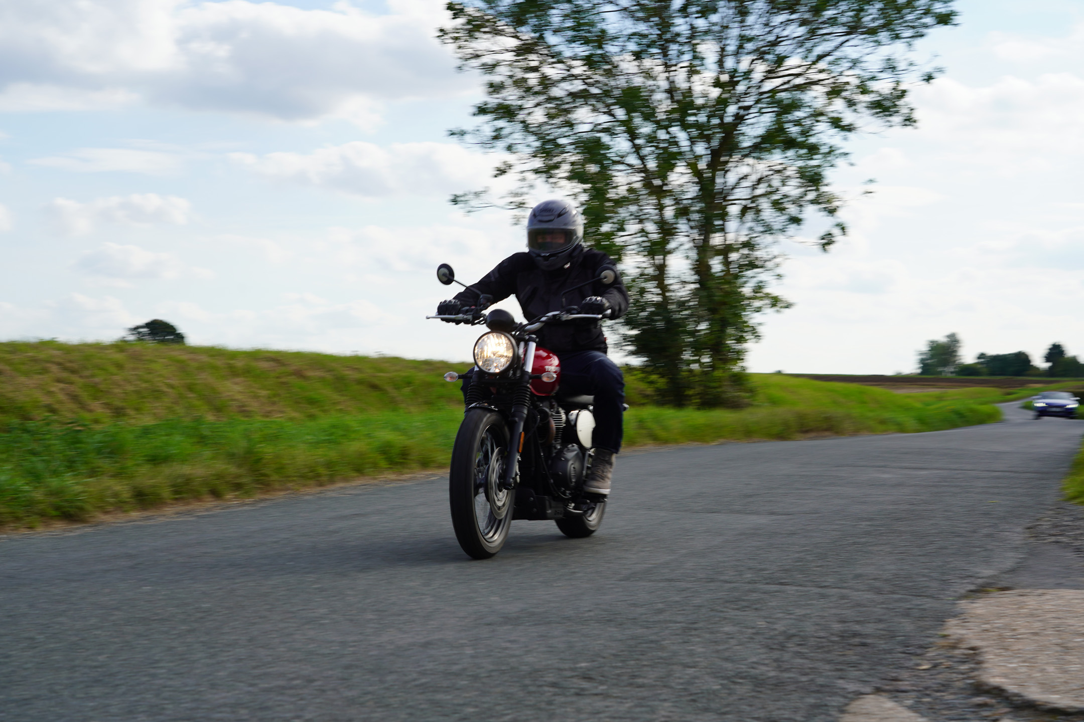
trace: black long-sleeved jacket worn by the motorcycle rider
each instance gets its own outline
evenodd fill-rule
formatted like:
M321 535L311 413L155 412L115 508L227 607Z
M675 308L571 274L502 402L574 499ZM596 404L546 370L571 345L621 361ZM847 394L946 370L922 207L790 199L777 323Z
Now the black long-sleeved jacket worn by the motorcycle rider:
M615 265L602 251L578 247L567 268L542 271L530 253L513 253L501 261L477 284L456 294L464 305L475 305L478 297L489 293L493 302L503 301L513 293L519 301L525 320L534 320L551 311L560 311L560 293L567 288L579 286L597 278L599 266ZM589 284L565 294L565 305L580 305L589 296L601 296L609 301L617 318L629 310L629 291L620 279L610 286L601 281ZM606 337L598 321L568 321L546 324L535 333L539 345L554 352L562 351L606 351Z

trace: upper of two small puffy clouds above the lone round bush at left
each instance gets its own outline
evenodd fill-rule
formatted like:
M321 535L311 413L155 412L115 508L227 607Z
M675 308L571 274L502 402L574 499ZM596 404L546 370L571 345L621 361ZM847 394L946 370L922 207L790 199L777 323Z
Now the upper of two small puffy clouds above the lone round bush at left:
M191 218L191 206L188 200L177 196L143 193L95 198L87 204L54 198L46 206L46 212L59 232L78 236L91 233L99 223L184 225Z

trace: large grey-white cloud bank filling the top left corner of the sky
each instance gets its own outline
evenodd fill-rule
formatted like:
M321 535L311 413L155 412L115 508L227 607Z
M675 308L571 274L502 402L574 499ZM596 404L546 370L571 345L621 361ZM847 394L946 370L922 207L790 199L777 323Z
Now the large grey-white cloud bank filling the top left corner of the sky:
M0 0L0 109L118 107L139 101L371 122L387 100L467 88L434 27L435 2L390 12L348 2Z

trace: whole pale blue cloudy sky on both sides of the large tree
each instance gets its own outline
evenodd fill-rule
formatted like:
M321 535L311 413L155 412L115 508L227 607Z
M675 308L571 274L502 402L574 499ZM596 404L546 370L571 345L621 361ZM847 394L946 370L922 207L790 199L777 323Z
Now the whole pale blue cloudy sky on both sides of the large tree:
M0 0L0 340L165 318L201 345L467 358L476 329L424 318L436 265L476 280L525 234L448 202L494 161L447 134L481 91L442 4ZM783 241L795 305L750 370L913 372L950 332L967 360L1084 356L1084 1L957 9L917 48L945 68L918 128L848 144L848 239Z

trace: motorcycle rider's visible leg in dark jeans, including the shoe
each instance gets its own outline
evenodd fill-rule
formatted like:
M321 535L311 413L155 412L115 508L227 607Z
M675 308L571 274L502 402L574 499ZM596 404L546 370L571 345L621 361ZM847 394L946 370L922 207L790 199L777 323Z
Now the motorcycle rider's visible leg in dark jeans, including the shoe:
M565 352L560 355L560 385L573 393L595 397L593 441L595 458L584 490L609 494L614 455L621 450L624 412L624 376L601 351Z

